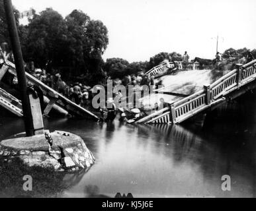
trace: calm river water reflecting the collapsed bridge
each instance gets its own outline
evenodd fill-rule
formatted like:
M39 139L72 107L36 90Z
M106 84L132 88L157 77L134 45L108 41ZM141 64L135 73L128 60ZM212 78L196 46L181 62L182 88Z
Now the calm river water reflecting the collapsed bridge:
M246 94L212 115L204 124L98 124L84 119L44 119L46 129L79 135L96 163L87 173L66 174L65 189L43 196L134 197L256 195L256 95ZM23 131L21 119L0 119L0 139ZM230 175L231 191L222 191ZM6 187L8 188L8 187ZM0 190L0 193L4 189ZM10 195L15 196L15 195ZM35 195L36 196L36 195ZM41 195L42 196L42 195Z

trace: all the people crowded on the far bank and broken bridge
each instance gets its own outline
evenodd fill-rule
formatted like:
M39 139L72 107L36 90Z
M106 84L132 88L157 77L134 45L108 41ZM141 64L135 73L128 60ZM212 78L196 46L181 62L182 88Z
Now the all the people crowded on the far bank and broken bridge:
M246 59L246 62L252 61L254 59L253 53L251 53L251 51L248 51L245 59ZM222 54L217 52L216 58L214 59L214 61L216 63L220 63L222 61ZM169 61L167 61L167 59L165 59L162 63L166 63L167 67L169 65ZM185 68L187 63L189 63L189 55L187 51L185 51L183 55L183 65ZM45 70L35 69L33 62L30 62L28 63L28 65L26 65L26 71L31 75L33 75L34 77L36 77L38 80L44 82L44 84L46 84L50 88L53 88L54 90L56 90L57 92L65 96L66 98L69 98L69 100L71 100L75 104L82 107L92 108L91 102L93 100L94 95L93 95L92 88L90 86L87 86L86 84L82 84L81 82L67 84L62 79L62 75L58 73L58 71L55 71L54 74L46 73ZM110 80L110 79L112 79L110 78L110 76L106 77L106 86L107 86L107 80ZM116 107L116 104L120 104L122 100L128 101L127 98L130 97L130 96L122 96L122 92L118 89L116 92L114 92L115 87L118 85L125 86L127 90L129 90L129 85L132 85L130 86L133 89L132 95L134 95L133 96L134 102L132 103L135 105L138 103L136 102L136 99L138 99L136 98L136 94L140 92L140 96L144 95L144 93L142 93L143 92L142 89L140 89L142 86L146 85L144 87L150 87L153 85L155 86L155 88L157 88L157 86L162 85L162 80L161 79L157 80L157 76L149 76L143 72L138 72L137 74L132 74L132 75L125 75L122 78L122 80L120 80L119 78L114 78L112 98L107 99L106 107L99 109L99 111L101 112L101 117L102 119L105 119L105 121L112 121L116 117L116 114L118 113L118 111L120 113L120 120L126 120L126 121L128 120L127 119L128 113L132 114L132 117L130 117L130 121L143 115L142 112L144 112L145 114L145 111L143 111L142 108L140 108L141 110L140 109L132 110L134 106L132 106L132 109L126 109L125 107L118 107L118 108ZM134 88L136 86L137 88ZM117 102L113 100L113 99L116 99L116 97L118 99ZM107 104L110 104L112 106L107 107ZM155 105L152 106L151 112L158 111L159 109L163 109L164 107L167 107L167 106L168 105L165 102L165 100L161 98L159 103L155 102Z

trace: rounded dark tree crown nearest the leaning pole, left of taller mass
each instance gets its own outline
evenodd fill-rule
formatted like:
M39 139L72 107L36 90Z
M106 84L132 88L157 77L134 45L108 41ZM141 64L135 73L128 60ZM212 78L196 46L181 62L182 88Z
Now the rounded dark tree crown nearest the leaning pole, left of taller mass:
M45 68L47 63L52 67L62 66L66 44L67 27L64 18L48 8L28 24L24 59L32 59L41 68Z

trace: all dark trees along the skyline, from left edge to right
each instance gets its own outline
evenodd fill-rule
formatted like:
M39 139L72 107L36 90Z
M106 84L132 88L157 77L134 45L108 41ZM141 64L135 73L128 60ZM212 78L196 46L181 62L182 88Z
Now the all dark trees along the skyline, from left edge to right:
M26 26L19 24L20 13L15 19L25 62L34 61L35 67L48 73L60 72L65 80L77 80L90 86L104 84L106 76L122 79L126 75L149 71L163 60L182 61L180 53L157 53L149 61L129 63L125 59L111 58L103 61L108 45L108 30L100 20L91 20L83 11L74 10L65 18L48 8L32 17ZM5 20L3 0L0 0L0 44L10 51L9 33ZM256 49L253 51L256 57ZM223 58L234 63L246 57L247 49L227 49ZM192 58L191 58L192 59Z

